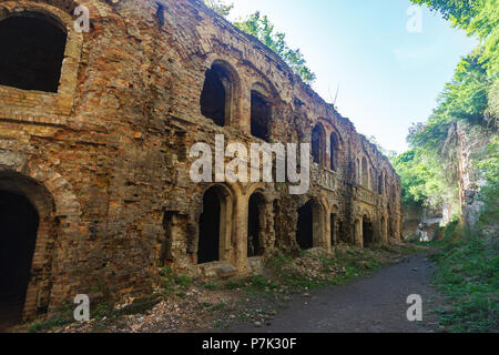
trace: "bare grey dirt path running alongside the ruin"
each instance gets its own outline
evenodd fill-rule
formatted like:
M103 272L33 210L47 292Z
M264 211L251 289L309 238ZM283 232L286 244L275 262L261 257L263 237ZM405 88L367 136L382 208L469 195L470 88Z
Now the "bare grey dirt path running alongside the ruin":
M435 310L439 303L430 285L434 265L426 254L383 268L347 285L297 296L271 325L253 324L231 328L234 333L420 333L435 332ZM407 297L422 297L424 321L408 322ZM224 331L226 332L226 329Z

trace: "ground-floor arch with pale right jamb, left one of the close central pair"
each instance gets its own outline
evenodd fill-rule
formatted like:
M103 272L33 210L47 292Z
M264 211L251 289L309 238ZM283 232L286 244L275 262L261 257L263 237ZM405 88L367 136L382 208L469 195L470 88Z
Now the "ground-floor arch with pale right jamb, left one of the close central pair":
M224 184L213 184L203 191L202 196L194 251L197 264L230 261L234 193ZM210 242L214 242L215 247Z

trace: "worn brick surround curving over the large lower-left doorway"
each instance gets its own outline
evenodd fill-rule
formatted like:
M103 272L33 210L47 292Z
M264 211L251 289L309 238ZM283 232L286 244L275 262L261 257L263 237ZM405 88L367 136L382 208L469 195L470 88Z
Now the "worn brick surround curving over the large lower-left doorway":
M24 196L37 210L39 226L31 265L23 318L44 313L65 297L53 294L53 253L55 240L79 233L80 203L71 184L48 165L27 161L19 152L0 150L0 190Z

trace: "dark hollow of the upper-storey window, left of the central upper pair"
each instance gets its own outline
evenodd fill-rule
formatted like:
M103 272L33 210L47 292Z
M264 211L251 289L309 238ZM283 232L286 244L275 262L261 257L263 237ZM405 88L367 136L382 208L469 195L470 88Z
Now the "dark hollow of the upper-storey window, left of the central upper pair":
M206 71L201 93L201 113L216 125L228 124L232 101L232 82L226 70L214 64Z

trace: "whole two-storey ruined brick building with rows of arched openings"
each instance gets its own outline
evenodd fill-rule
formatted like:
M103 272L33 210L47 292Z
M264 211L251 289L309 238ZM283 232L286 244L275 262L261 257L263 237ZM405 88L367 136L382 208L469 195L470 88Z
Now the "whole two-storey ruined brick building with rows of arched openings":
M0 0L0 308L32 317L78 293L147 293L164 265L245 275L277 248L399 237L387 159L198 0ZM312 143L308 193L193 183L190 148L215 134Z

